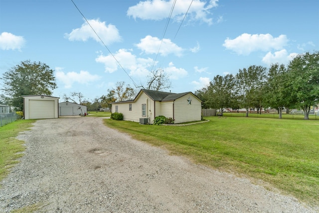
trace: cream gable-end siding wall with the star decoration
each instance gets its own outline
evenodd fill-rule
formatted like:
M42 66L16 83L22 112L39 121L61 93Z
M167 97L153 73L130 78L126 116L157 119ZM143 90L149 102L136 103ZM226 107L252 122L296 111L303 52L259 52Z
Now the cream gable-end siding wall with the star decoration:
M187 99L190 98L191 104ZM184 95L174 101L175 123L201 120L201 102L191 93Z

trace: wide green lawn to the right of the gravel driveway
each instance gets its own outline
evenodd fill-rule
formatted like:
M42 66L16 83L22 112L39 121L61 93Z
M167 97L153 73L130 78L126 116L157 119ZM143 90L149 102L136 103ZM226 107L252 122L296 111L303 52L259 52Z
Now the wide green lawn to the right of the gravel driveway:
M261 179L301 201L319 205L319 121L207 117L191 126L104 120L134 138L194 163Z

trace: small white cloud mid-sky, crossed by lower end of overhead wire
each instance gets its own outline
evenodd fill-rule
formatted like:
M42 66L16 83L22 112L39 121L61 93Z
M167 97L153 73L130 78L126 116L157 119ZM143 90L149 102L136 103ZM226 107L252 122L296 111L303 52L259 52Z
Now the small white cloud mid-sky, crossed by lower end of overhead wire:
M141 42L136 44L143 52L147 54L157 54L160 49L160 54L166 56L174 54L177 56L182 55L183 49L171 42L170 39L163 39L162 42L159 38L147 35L141 39Z

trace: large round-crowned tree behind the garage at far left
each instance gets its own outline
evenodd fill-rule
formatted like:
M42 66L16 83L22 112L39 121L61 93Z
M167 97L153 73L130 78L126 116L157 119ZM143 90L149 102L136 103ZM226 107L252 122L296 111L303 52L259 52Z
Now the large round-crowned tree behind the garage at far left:
M53 72L45 63L21 61L3 73L1 90L11 105L23 110L22 95L52 95L57 88Z

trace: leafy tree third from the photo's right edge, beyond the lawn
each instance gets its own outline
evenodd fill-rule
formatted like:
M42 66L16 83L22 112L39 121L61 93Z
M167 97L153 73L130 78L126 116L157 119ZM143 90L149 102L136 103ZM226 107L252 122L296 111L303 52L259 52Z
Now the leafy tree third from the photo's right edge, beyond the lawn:
M246 108L246 117L250 107L255 107L260 100L260 90L265 80L266 68L252 65L247 69L239 69L236 74L235 94L240 107Z

